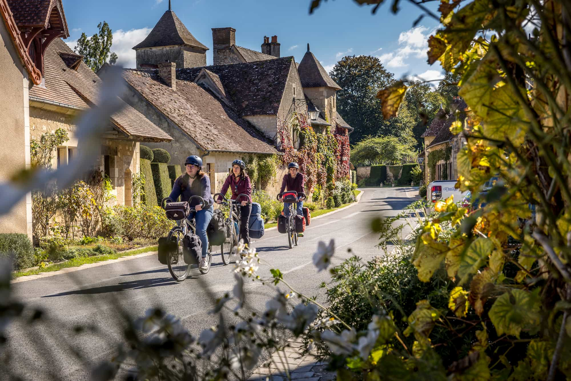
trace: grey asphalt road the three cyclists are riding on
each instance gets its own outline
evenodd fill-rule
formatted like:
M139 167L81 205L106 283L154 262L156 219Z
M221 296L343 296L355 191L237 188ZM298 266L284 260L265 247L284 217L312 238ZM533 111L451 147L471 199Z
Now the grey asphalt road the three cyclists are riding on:
M312 254L320 240L328 243L335 239L333 264L352 255L364 260L383 255L376 247L378 235L371 232L371 219L396 215L418 192L412 188L363 190L358 204L313 219L297 247L289 249L287 236L277 230L267 231L253 243L268 263L260 266L258 273L269 276L270 268L279 268L292 287L307 295L320 296L323 301L324 290L318 286L329 282L330 276L328 271L317 272L312 263ZM122 337L118 308L112 300L134 316L143 316L150 307L163 307L182 319L191 334L198 337L204 328L218 323L215 316L208 315L213 303L204 284L219 297L226 292L231 294L234 282L232 266L224 266L219 255L214 256L208 274L196 274L180 283L171 278L167 267L155 255L150 255L15 283L13 294L28 306L44 311L50 323L18 323L9 327L11 369L28 380L50 379L50 371L63 379L89 379L90 366L111 358ZM250 294L247 302L259 311L275 295L271 287L258 282L247 282L246 290ZM228 316L228 322L232 319L234 316ZM89 324L97 327L100 334L72 332L74 326ZM88 363L78 361L70 347ZM0 379L5 376L0 375Z

